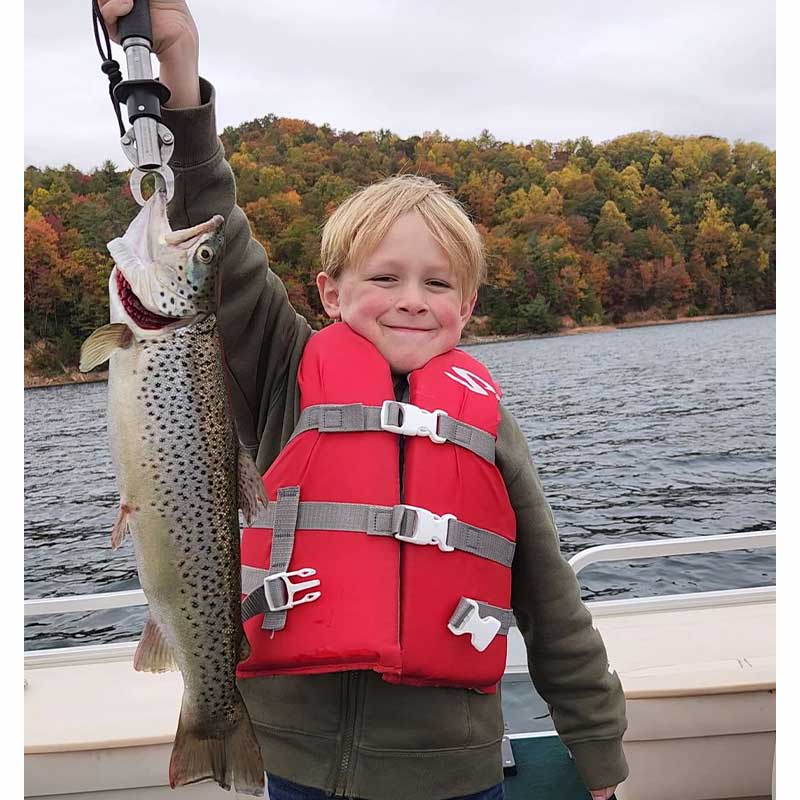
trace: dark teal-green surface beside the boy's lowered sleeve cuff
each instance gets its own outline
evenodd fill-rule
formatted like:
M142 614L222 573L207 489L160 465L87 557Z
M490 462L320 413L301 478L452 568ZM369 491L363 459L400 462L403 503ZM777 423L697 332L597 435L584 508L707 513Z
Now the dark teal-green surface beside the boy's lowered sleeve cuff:
M512 739L517 774L505 779L506 800L591 800L558 736Z

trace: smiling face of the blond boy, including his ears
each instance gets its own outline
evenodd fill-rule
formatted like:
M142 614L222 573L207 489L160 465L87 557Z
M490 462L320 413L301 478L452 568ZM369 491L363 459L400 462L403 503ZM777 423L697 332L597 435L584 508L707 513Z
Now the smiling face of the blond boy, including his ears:
M445 250L416 211L404 214L357 270L317 288L328 316L369 339L394 374L424 366L458 344L477 292L461 297Z

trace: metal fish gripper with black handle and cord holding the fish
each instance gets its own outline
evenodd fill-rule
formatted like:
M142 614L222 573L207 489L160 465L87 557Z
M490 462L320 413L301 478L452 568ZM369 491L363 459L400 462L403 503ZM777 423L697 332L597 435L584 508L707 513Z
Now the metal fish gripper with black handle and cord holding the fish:
M120 130L122 152L133 164L130 175L131 194L143 206L142 180L153 175L156 190L166 192L167 202L175 193L175 176L168 162L175 147L172 131L161 121L161 106L169 100L170 91L153 77L150 54L153 33L150 24L149 0L134 0L129 14L117 23L120 45L125 53L128 80L122 79L120 66L111 58L111 41L97 0L92 0L92 21L97 49L103 59L101 69L108 76L109 94ZM101 33L105 43L101 41ZM130 127L125 130L120 106L124 105Z

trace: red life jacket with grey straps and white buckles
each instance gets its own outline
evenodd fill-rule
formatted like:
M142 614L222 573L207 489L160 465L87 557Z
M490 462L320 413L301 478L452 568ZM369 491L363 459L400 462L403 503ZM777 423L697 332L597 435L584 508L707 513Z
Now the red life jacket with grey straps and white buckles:
M331 325L306 345L298 381L301 421L317 414L319 424L296 430L264 475L272 517L243 531L243 599L258 596L261 605L245 619L251 655L239 664L237 676L370 669L391 683L494 692L506 664L507 637L495 635L500 626L495 618L503 613L510 618L516 517L493 452L487 457L469 444L403 436L401 502L401 435L335 428L350 414L343 407L401 405L395 402L389 365L374 345L347 324ZM443 410L462 423L455 438L482 437L493 448L500 390L480 362L451 350L411 372L408 381L411 405ZM400 413L419 416L409 407ZM330 424L332 432L325 430ZM330 520L323 525L319 515L313 521L326 509L350 513L350 506L338 504L355 504L359 513L366 509L367 522L342 530ZM387 528L409 538L399 540ZM286 550L289 529L288 566L278 567L282 574L261 586L271 561L275 572L276 555ZM442 541L443 531L456 541L455 549L436 541L415 543L431 532ZM278 539L282 544L273 548ZM291 590L292 607L272 612L264 605L265 587L277 588L285 599L298 583L297 591ZM270 617L277 623L268 625ZM459 635L465 617L468 635ZM508 624L503 620L505 631ZM482 633L473 636L478 630Z

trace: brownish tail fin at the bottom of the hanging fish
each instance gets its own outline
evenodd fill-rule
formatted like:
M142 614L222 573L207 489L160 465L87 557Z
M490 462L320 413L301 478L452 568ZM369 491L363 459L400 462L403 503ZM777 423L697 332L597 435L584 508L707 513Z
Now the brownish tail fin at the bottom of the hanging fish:
M237 792L264 796L261 748L238 692L237 703L240 705L239 721L222 737L204 737L192 730L181 709L169 762L171 788L211 778L223 789L230 789L233 775Z

